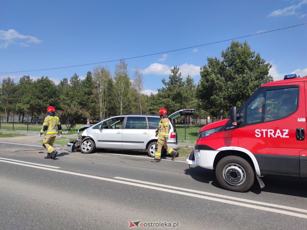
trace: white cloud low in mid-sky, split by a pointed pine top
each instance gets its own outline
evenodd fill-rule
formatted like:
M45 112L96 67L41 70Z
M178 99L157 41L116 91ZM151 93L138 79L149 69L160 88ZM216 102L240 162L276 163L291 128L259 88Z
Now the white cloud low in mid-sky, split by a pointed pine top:
M141 70L142 74L155 74L155 75L169 75L171 73L172 67L169 67L168 65L165 64L160 64L160 63L153 63L149 67L147 67L144 70ZM189 65L187 63L179 66L179 71L181 72L181 76L183 78L186 78L188 74L191 77L195 77L197 75L200 75L200 66L196 65Z

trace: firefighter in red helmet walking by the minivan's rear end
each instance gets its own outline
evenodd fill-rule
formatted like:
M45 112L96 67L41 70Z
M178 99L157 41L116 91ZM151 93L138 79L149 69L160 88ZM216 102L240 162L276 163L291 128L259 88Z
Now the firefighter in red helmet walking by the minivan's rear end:
M178 156L178 152L174 151L171 147L167 146L167 141L169 139L169 119L167 115L167 111L165 108L161 108L159 110L160 114L160 122L159 127L156 130L156 137L158 137L158 141L155 148L154 159L151 162L160 162L161 161L161 151L162 147L164 147L167 152L172 156L172 160L174 160Z

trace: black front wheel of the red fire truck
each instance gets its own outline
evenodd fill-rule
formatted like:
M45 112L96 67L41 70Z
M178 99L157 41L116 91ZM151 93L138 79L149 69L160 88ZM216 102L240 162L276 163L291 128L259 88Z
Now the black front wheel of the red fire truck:
M231 191L244 192L254 183L255 173L242 157L226 156L216 165L216 178L220 185Z

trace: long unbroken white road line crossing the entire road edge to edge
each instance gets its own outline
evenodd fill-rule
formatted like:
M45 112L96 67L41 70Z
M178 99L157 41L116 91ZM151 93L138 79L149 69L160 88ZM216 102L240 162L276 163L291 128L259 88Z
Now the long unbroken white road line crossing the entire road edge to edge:
M159 188L159 187L154 187L154 186L149 186L149 185L144 185L144 184L137 184L137 183L133 183L133 182L117 180L117 179L112 179L112 178L104 178L104 177L92 176L92 175L87 175L87 174L82 174L82 173L69 172L69 171L64 171L64 170L60 170L60 169L45 168L45 167L41 167L41 166L23 164L23 163L18 163L18 162L13 162L13 161L0 160L0 162L17 164L17 165L33 167L33 168L39 168L39 169L44 169L44 170L49 170L49 171L54 171L54 172L60 172L60 173L65 173L65 174L83 176L83 177L88 177L88 178L94 178L94 179L98 179L98 180L110 181L110 182L115 182L115 183L120 183L120 184L131 185L131 186L138 186L138 187L147 188L147 189L153 189L153 190L159 190L159 191L163 191L163 192L175 193L175 194L185 195L185 196L189 196L189 197L197 197L197 198L201 198L201 199L205 199L205 200L218 201L218 202L222 202L222 203L226 203L226 204L238 205L238 206L242 206L242 207L253 208L253 209L269 211L269 212L273 212L273 213L280 213L280 214L285 214L285 215L289 215L289 216L293 216L293 217L301 217L301 218L307 219L307 215L301 214L301 213L293 213L293 212L289 212L289 211L272 209L272 208L267 208L267 207L262 207L262 206L257 206L257 205L251 205L251 204L245 204L245 203L240 203L240 202L236 202L236 201L223 200L223 199L220 199L220 198L208 197L208 196L203 196L203 195L199 195L199 194L192 194L192 193L181 192L181 191L177 191L177 190L170 190L170 189L166 189L166 188Z

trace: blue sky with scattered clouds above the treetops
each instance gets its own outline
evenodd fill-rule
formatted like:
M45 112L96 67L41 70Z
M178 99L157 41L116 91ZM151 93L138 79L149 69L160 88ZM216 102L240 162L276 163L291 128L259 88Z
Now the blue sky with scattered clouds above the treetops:
M307 22L307 0L297 1L2 1L0 72L96 63L231 39ZM239 39L243 42L245 39ZM252 50L273 64L270 74L307 75L307 25L246 38ZM143 71L145 93L162 87L169 69L200 79L207 57L231 41L197 49L129 59ZM107 63L111 72L116 62ZM97 65L0 74L58 83L76 72L84 77Z

